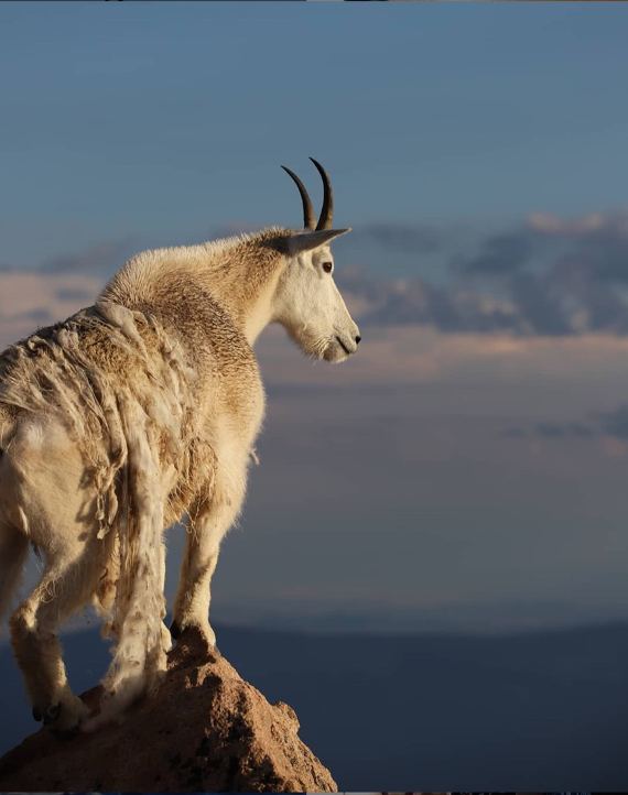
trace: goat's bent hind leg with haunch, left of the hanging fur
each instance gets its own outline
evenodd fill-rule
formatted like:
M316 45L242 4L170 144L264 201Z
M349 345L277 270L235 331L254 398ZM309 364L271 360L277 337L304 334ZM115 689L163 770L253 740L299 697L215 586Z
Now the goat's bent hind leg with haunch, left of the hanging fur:
M35 416L2 456L3 514L45 556L40 582L10 619L11 645L37 720L75 728L87 708L69 688L56 632L98 588L113 533L96 536L96 493L65 425ZM111 536L111 538L110 538Z

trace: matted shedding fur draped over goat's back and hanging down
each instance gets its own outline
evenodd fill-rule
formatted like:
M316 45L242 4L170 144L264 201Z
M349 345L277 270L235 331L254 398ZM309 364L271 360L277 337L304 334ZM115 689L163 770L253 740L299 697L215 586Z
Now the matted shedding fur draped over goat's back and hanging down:
M89 356L96 341L105 358L124 360L126 381ZM95 600L110 613L117 639L104 679L112 694L109 717L139 695L147 677L154 685L165 671L163 527L215 464L210 446L201 444L191 377L180 346L154 318L110 302L0 357L0 404L63 420L96 488L98 537L118 534L115 600L109 593L109 608L107 598ZM173 471L177 487L164 492Z

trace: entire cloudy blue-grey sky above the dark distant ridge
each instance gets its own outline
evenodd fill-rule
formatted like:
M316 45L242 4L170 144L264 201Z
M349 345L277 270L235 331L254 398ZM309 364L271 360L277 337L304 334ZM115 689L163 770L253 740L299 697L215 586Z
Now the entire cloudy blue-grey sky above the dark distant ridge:
M262 336L220 618L625 617L626 6L242 9L0 4L0 347L139 250L297 226L279 166L317 204L312 155L364 340L325 368Z

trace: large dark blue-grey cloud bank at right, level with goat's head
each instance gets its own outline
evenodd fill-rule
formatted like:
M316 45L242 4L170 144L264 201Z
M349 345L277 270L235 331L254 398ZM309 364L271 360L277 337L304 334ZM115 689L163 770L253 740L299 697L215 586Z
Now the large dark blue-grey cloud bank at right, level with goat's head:
M472 313L458 330L628 334L626 209L575 220L532 213L522 228L480 241L477 254L452 258L452 271L466 283L467 292L501 295L510 304L506 316ZM446 330L437 318L433 322Z

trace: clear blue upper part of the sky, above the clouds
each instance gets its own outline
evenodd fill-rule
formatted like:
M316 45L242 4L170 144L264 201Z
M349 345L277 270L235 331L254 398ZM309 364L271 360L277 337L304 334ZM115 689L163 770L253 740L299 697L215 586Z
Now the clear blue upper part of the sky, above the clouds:
M6 263L296 222L308 154L354 226L621 203L621 3L241 8L3 3Z

